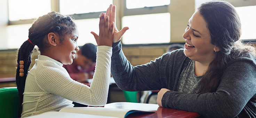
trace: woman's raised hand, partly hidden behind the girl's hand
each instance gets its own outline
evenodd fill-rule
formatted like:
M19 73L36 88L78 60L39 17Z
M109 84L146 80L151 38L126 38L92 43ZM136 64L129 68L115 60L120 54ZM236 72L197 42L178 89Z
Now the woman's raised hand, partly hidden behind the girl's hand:
M113 6L113 4L110 4L109 8L107 9L105 13L105 17L109 16L110 21L109 22L114 22L116 24L116 6ZM118 31L117 26L115 25L114 27L114 38L113 38L113 43L118 42L123 34L125 34L126 30L129 29L129 27L123 27L120 31Z

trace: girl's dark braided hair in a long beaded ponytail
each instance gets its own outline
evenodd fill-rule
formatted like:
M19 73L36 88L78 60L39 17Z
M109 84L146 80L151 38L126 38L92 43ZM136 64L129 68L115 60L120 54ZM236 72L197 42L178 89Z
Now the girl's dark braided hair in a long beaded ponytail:
M56 12L50 12L47 15L39 17L29 29L29 40L37 45L40 52L43 52L48 47L46 43L47 35L51 32L57 33L60 37L60 43L64 41L64 36L66 34L72 33L75 30L76 25L70 17L65 17ZM31 64L31 54L34 49L34 45L26 40L21 47L18 49L17 54L17 70L16 70L16 84L19 94L19 117L21 117L22 112L22 102L23 102L23 92L25 89L25 81L27 77L27 72ZM19 64L20 61L24 61L24 64ZM24 75L19 76L20 65L23 65Z

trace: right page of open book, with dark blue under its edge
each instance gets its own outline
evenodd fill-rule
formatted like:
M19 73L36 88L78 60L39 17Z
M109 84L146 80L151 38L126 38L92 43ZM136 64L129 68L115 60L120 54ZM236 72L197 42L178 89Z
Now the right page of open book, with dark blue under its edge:
M131 109L117 109L117 108L104 108L104 107L67 107L61 109L59 112L69 112L77 114L99 115L125 118L133 113L154 113L154 111L140 111Z

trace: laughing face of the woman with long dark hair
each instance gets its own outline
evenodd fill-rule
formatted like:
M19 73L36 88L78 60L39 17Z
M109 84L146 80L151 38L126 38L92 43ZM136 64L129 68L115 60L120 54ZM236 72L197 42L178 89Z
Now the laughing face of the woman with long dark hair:
M185 39L184 54L191 60L210 63L215 58L216 46L211 44L210 31L202 15L195 11L183 34Z

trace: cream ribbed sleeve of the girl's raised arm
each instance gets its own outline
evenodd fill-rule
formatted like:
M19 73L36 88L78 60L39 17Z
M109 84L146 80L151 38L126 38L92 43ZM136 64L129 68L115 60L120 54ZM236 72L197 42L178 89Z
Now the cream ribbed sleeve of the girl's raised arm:
M109 90L111 55L112 47L97 47L96 69L90 87L72 80L65 71L53 66L53 62L42 63L37 67L36 82L42 90L68 100L104 106Z

